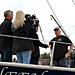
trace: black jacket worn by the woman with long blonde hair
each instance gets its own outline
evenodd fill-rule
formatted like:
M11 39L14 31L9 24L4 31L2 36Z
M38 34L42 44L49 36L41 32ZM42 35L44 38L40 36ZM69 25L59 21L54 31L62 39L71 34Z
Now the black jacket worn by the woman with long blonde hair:
M23 27L16 29L13 32L14 36L20 36L20 37L27 37L27 38L34 38L34 30L31 28L31 26L28 23L25 23ZM16 52L23 52L28 50L33 50L34 45L32 40L27 39L19 39L14 38L13 39L13 53Z

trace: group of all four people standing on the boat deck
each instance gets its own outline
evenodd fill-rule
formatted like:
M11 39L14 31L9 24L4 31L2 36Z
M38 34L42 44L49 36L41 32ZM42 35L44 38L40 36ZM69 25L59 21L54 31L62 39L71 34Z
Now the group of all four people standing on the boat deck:
M49 42L49 44L46 45L40 42L38 38L36 32L38 32L39 24L36 23L36 20L34 20L33 23L35 27L32 28L31 25L26 21L23 11L16 12L13 22L13 11L6 10L4 12L4 17L5 19L0 25L0 34L33 38L38 40L1 36L0 51L2 62L12 62L12 54L16 54L17 63L38 65L40 57L39 46L43 48L49 48L51 46L50 52L52 53L53 42ZM68 37L61 35L61 31L58 27L54 29L54 32L56 37L53 38L51 41L65 42L71 44L55 44L53 65L67 67L66 59L71 53L74 45ZM68 51L69 45L70 49Z

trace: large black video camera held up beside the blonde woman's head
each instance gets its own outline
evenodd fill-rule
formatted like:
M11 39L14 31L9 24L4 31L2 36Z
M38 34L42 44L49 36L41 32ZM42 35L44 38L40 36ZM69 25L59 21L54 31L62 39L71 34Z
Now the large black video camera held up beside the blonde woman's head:
M33 28L39 26L39 19L36 18L36 15L25 14L26 22L28 22ZM36 20L36 24L34 24L34 20Z

